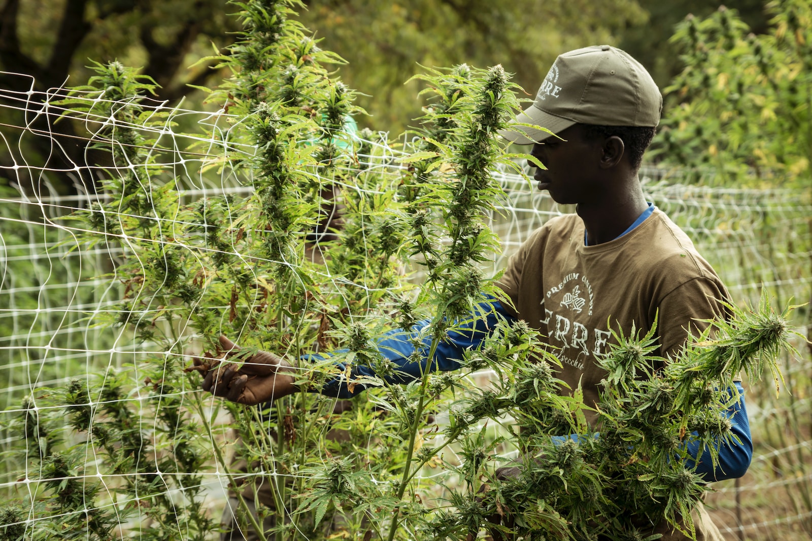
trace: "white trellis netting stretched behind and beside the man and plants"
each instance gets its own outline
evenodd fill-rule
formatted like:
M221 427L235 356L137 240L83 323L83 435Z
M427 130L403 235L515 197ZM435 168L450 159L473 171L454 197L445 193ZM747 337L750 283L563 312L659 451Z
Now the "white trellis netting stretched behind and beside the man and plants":
M102 168L75 159L88 159L92 141L58 135L52 129L64 112L55 102L63 97L61 89L48 95L0 93L0 110L6 118L17 119L0 130L0 170L6 179L0 192L0 351L5 359L0 380L6 385L2 415L19 414L22 397L37 388L65 385L140 355L163 353L149 350L149 343L136 345L120 328L89 324L100 314L118 309L125 286L114 270L123 249L105 243L80 246L76 223L60 219L106 198L88 190ZM219 172L207 169L222 155L233 127L226 114L167 109L163 104L145 109L171 113L160 125L136 128L150 131L158 140L151 151L183 180L184 199L248 194L250 188L242 186L239 176L227 167ZM86 127L92 134L110 122L113 119L89 118ZM184 127L196 125L208 127L210 137L184 135L191 131ZM397 150L381 141L367 143L374 152L360 154L359 161L379 173L396 174L402 165L395 158L402 155L404 146L408 148L408 142ZM50 148L45 163L32 161L29 153L35 144L38 153ZM74 147L67 148L68 144ZM192 144L193 150L188 151ZM253 148L231 145L229 151L250 155ZM58 195L53 187L57 177L71 178L79 195ZM680 170L650 167L644 167L641 179L650 200L693 238L737 303L754 302L764 287L780 303L810 299L808 191L698 186L684 182ZM559 208L516 175L502 174L499 180L508 201L492 218L503 244L492 270L500 268L538 225L570 210ZM807 314L803 308L797 311L798 324L809 324ZM757 442L754 464L744 479L719 483L718 492L709 499L727 535L801 539L812 531L810 367L808 354L787 359L784 376L793 394L776 398L768 386L749 392ZM0 439L8 446L19 440L19 434L6 432ZM225 484L222 479L215 481L213 488ZM26 487L21 486L18 472L6 471L0 484L3 494L14 497L27 489L27 483L26 479Z

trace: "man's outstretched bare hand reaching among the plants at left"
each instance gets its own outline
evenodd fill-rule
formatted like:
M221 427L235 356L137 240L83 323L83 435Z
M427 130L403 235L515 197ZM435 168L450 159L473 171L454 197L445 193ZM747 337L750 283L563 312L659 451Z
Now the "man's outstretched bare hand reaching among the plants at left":
M285 359L267 351L240 359L243 363L224 363L226 359L240 354L240 348L227 337L220 336L218 354L223 359L210 363L204 359L194 359L194 365L187 371L199 371L203 378L203 390L216 397L226 397L240 404L261 404L296 393L299 387L294 384L295 368Z

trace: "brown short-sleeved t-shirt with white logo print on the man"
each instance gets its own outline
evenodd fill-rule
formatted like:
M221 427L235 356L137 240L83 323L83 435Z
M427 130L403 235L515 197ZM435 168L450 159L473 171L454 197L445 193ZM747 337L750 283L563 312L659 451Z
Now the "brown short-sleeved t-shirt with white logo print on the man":
M546 334L559 348L559 378L578 384L587 406L598 401L605 372L595 363L614 341L611 331L647 333L657 322L662 356L685 345L689 328L723 315L728 291L690 239L654 208L620 238L585 246L584 223L576 214L547 221L508 260L499 286L516 317ZM587 412L588 421L595 415Z

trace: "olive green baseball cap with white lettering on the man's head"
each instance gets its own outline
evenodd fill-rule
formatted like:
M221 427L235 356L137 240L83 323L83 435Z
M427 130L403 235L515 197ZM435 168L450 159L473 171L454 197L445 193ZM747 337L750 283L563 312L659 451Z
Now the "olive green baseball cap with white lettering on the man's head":
M663 96L640 62L616 47L592 45L559 55L533 105L513 122L554 134L573 124L655 127L662 109ZM550 137L535 127L516 125L499 135L516 144Z

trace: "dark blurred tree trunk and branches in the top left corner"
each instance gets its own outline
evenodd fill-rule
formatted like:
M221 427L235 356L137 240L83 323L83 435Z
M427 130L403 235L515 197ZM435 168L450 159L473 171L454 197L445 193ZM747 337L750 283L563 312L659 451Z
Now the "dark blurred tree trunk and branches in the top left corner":
M15 92L45 92L66 81L75 85L87 80L89 58L119 59L143 67L141 72L160 85L155 97L177 101L190 92L187 84L206 84L217 75L209 63L189 66L210 54L212 42L218 47L230 43L228 32L234 28L222 0L5 0L0 7L0 69L11 73L0 74L0 86ZM11 74L31 75L33 82ZM41 156L40 165L64 169L72 166L70 161L84 165L100 158L97 152L83 155L84 144L75 138L83 134L80 128L53 121L38 118L31 125L32 133L21 141L24 148ZM20 118L0 122L21 125ZM37 131L62 135L56 140L65 148L67 161L54 157L52 141L37 136ZM19 137L19 133L11 135L12 140ZM19 163L13 146L0 149L0 164ZM6 182L23 186L36 180L4 174ZM53 174L50 181L62 193L78 189L67 175Z

